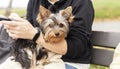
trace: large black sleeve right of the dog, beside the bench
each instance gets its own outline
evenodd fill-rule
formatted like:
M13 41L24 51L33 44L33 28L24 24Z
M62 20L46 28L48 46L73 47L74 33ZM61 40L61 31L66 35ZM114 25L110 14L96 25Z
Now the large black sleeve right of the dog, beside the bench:
M66 55L63 56L63 59L67 61L68 59L89 59L94 9L90 0L75 0L72 6L75 18L66 38L68 50Z

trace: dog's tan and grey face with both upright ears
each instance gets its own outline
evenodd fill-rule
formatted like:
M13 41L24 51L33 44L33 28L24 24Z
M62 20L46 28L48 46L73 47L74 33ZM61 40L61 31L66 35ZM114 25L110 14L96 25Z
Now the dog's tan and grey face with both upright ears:
M69 31L69 24L72 23L72 7L69 6L58 13L51 13L48 9L40 6L37 21L44 33L47 42L59 42L65 39Z

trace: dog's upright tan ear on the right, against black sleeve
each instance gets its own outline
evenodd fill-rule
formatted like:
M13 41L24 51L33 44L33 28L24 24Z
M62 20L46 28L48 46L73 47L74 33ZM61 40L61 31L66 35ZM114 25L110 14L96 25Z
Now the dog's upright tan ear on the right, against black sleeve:
M65 17L70 23L73 22L74 16L72 14L72 6L68 6L65 10L61 12L62 16Z

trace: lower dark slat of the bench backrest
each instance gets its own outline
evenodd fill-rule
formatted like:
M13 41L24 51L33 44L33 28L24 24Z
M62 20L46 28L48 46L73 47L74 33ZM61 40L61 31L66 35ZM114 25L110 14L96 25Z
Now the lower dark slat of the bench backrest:
M92 50L92 64L98 64L103 66L109 66L113 59L113 53L112 50L106 50L106 49L97 49L93 48Z

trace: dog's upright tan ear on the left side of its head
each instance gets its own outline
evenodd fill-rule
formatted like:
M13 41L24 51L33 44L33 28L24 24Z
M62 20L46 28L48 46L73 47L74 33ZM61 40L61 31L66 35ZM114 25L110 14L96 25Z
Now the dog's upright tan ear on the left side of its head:
M42 23L43 20L45 20L46 18L49 17L50 13L51 12L48 9L46 9L45 7L43 7L42 5L40 5L40 7L39 7L39 13L38 13L38 16L37 16L37 21L39 23Z

